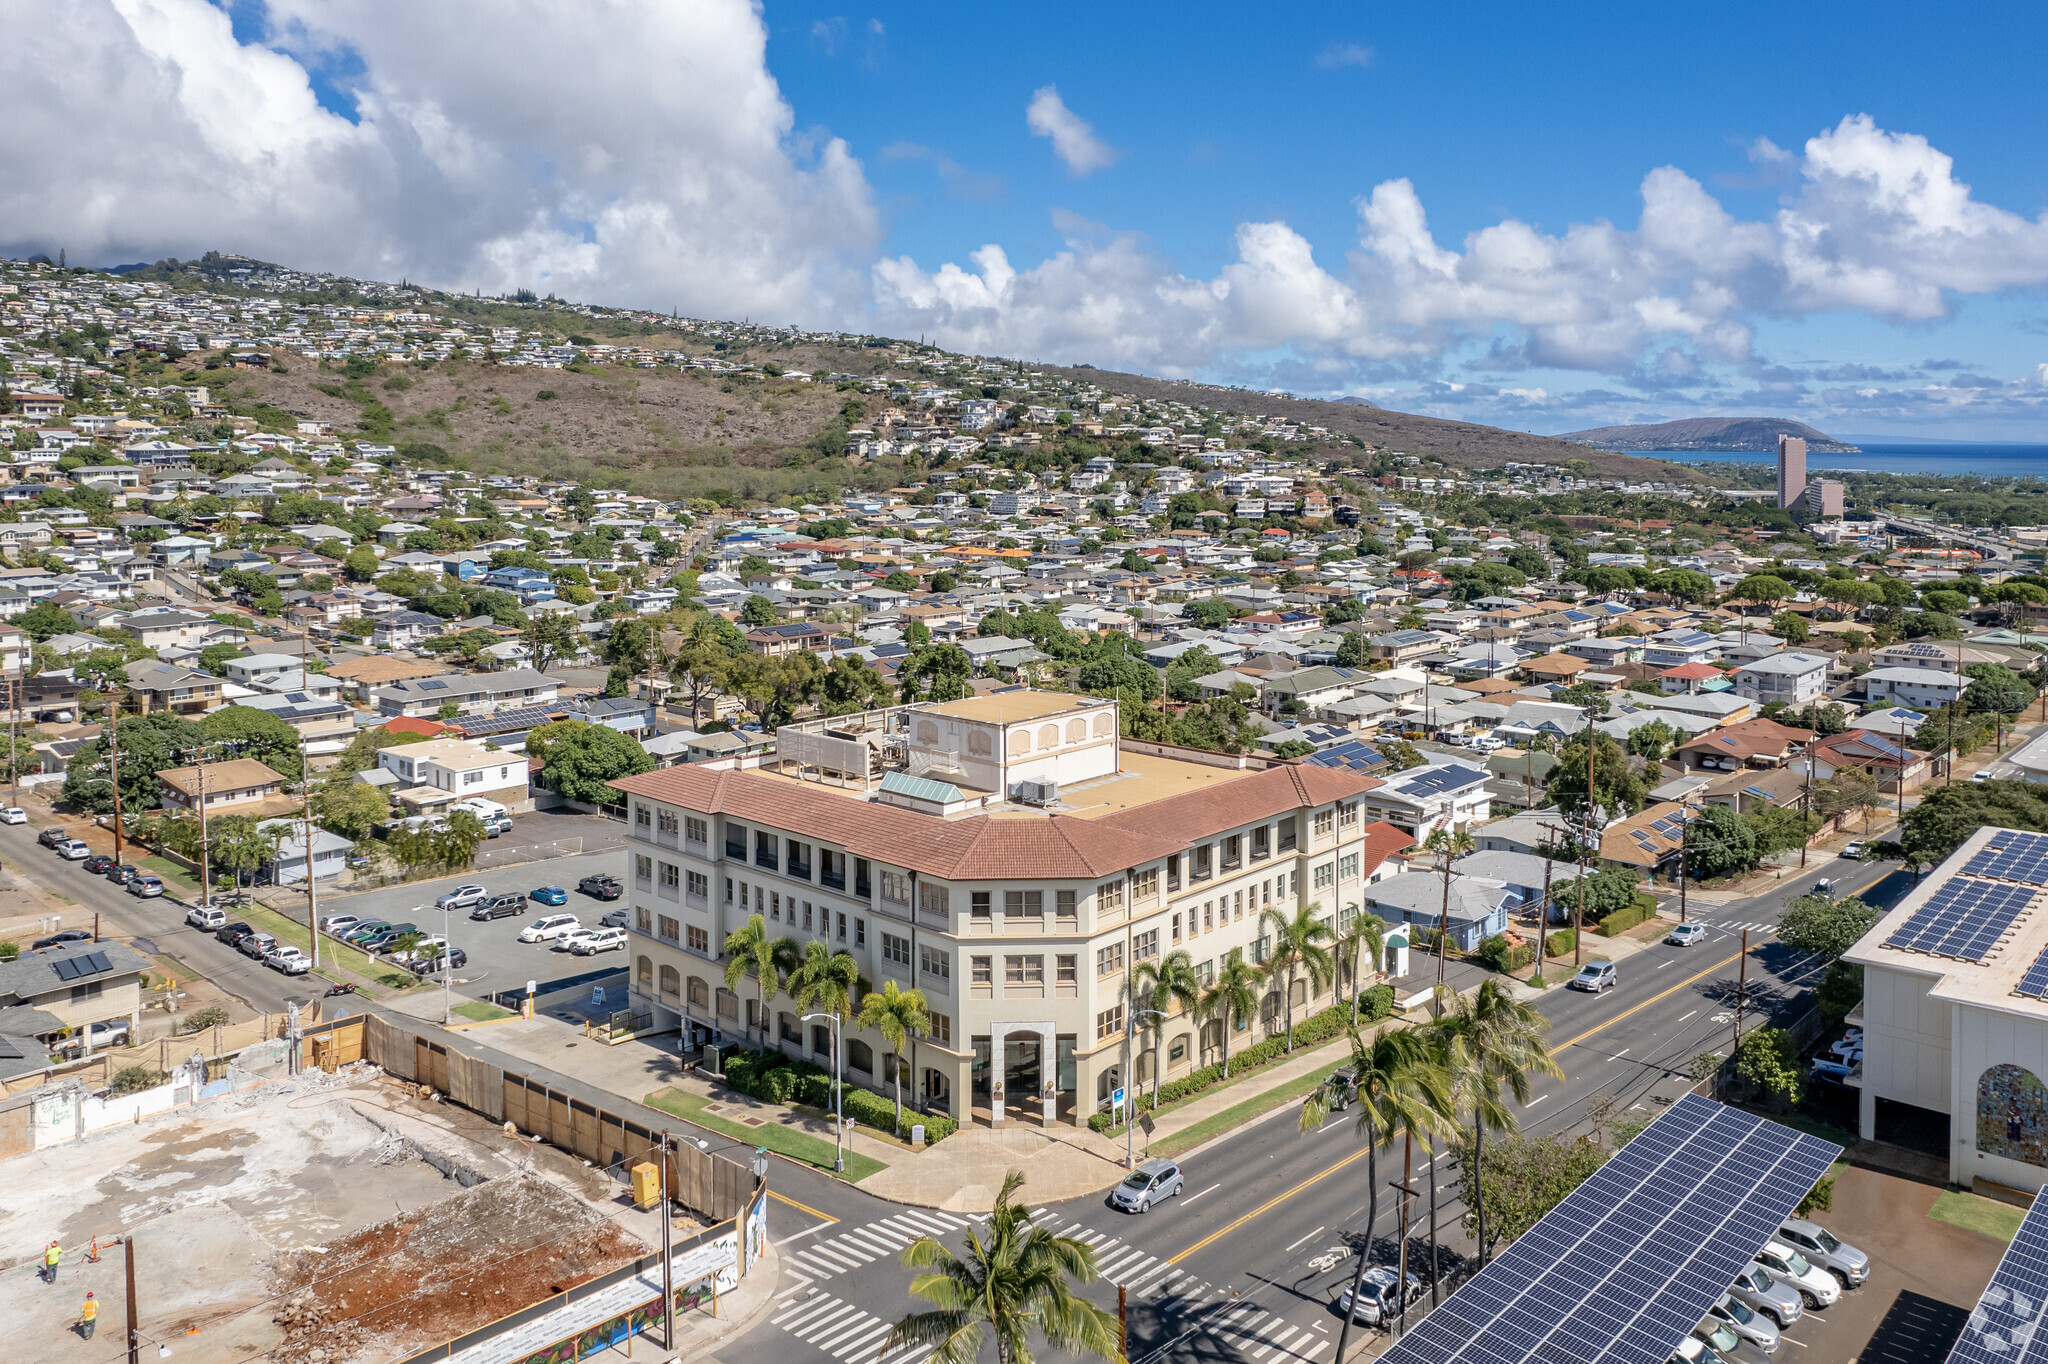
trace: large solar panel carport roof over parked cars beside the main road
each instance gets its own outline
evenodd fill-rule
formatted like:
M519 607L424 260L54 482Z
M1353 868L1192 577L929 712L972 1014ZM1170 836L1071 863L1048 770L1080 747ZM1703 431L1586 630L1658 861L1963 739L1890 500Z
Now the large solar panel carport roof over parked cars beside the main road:
M1688 1094L1380 1360L1665 1364L1839 1153Z

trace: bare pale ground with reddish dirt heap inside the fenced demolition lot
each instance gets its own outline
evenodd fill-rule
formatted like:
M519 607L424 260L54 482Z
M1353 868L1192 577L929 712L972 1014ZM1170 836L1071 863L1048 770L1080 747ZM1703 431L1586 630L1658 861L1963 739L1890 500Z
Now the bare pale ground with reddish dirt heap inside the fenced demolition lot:
M186 1364L385 1360L647 1253L602 1171L406 1094L301 1075L0 1163L8 1364L104 1364L135 1239L145 1337ZM41 1247L59 1282L37 1282ZM74 1331L86 1290L106 1333Z

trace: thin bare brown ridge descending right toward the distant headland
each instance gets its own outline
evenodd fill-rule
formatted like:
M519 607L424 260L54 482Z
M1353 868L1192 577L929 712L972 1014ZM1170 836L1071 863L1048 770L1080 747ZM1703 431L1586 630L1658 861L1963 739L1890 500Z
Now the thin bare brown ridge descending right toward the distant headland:
M1446 422L1409 412L1368 408L1356 401L1329 401L1321 397L1288 397L1284 393L1262 393L1257 389L1227 389L1210 383L1188 383L1186 379L1153 379L1151 375L1124 375L1114 369L1094 369L1090 365L1065 369L1059 365L1032 365L1032 369L1096 383L1116 393L1157 397L1161 401L1210 403L1229 412L1257 412L1280 416L1290 422L1327 426L1333 432L1358 436L1382 444L1403 455L1432 455L1456 469L1499 469L1509 461L1536 465L1563 465L1567 459L1583 459L1597 477L1665 479L1686 481L1696 475L1679 465L1632 455L1612 455L1587 451L1583 444L1556 436L1532 436L1522 430L1501 430L1477 422Z

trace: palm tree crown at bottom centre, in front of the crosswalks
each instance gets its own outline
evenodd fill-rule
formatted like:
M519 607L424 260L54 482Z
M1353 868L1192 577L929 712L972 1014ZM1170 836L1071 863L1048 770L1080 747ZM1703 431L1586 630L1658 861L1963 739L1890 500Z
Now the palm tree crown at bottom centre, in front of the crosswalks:
M965 1255L932 1237L903 1247L903 1268L924 1270L909 1282L911 1296L938 1311L897 1321L883 1356L897 1346L932 1346L932 1364L977 1364L993 1337L995 1364L1032 1364L1036 1331L1055 1350L1124 1364L1116 1315L1073 1290L1096 1282L1096 1251L1034 1227L1024 1204L1012 1202L1022 1184L1020 1169L1004 1178L987 1231L967 1229Z

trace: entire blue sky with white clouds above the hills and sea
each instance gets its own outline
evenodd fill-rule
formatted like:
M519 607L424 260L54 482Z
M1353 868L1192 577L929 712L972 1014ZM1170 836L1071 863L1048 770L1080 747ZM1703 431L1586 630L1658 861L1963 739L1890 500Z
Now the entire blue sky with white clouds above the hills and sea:
M76 0L0 252L2048 442L2042 6Z

